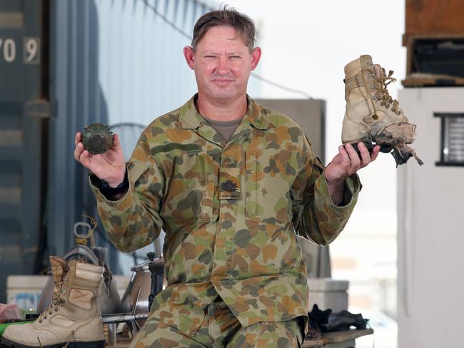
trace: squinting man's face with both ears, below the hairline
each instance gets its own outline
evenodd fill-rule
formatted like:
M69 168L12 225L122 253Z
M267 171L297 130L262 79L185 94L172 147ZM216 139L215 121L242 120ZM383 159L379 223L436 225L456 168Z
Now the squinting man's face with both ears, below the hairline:
M195 71L198 93L213 100L234 100L246 93L248 76L258 65L261 49L250 53L241 35L230 26L213 26L198 41L195 52L184 48Z

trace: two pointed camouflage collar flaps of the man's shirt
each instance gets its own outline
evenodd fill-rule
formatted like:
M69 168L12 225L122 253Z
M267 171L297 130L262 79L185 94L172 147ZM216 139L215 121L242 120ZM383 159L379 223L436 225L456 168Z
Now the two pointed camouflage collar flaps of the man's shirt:
M179 109L178 128L195 129L205 123L203 117L196 110L195 101L197 98L198 93ZM243 122L251 124L254 128L268 129L269 121L266 118L266 110L253 101L248 94L246 95L246 100L248 101L248 108L245 116L243 116Z

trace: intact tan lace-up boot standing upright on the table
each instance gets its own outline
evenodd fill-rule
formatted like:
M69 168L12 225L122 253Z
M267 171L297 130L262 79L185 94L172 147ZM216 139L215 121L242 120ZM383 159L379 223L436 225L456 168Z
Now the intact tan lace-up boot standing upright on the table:
M14 347L105 347L103 322L96 300L104 267L50 257L54 293L35 322L10 325L3 340Z

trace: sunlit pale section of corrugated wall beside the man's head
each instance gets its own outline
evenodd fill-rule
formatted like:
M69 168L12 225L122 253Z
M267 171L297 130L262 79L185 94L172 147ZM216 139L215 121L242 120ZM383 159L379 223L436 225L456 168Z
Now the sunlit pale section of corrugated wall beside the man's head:
M188 6L192 1L151 2L153 6L158 2L158 11L176 18L176 24L186 31L193 26L191 13L201 10ZM195 78L182 54L188 39L143 1L98 0L96 5L99 81L108 102L109 123L135 120L148 124L153 116L177 108L195 92Z

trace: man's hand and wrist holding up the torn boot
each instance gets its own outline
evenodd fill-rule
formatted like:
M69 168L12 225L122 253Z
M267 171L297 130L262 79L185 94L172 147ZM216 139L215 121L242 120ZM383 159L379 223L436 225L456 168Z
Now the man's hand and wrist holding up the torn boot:
M364 168L370 162L377 158L380 146L376 145L372 152L362 142L358 143L360 155L353 148L353 145L347 143L338 147L338 153L324 170L326 175L328 191L333 203L339 205L343 200L343 186L348 176L355 174L360 168Z

